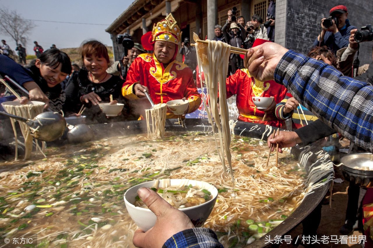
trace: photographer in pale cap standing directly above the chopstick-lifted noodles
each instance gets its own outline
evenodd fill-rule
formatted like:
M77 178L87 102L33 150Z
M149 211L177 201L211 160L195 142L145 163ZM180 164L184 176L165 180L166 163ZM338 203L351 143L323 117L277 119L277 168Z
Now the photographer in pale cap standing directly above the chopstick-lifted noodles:
M237 9L236 9L237 10ZM229 45L232 47L241 47L246 39L246 31L244 26L239 23L236 23L237 18L235 16L235 7L232 10L228 10L228 19L225 25L222 28L223 35L225 36L225 40ZM230 32L228 32L228 25ZM243 61L238 54L231 53L231 67L232 73L234 74L236 70L243 68Z

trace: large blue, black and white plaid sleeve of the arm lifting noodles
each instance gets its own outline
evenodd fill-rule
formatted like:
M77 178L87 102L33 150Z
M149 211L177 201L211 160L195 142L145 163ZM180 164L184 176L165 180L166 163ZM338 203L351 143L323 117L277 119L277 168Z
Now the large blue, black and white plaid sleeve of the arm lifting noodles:
M373 86L343 76L320 60L289 50L275 69L275 81L329 127L373 152Z

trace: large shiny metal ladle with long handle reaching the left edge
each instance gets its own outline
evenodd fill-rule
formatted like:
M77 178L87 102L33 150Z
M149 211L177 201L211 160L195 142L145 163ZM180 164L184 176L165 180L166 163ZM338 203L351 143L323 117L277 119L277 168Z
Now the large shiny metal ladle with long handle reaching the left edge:
M31 127L32 136L41 141L54 141L62 136L66 128L66 121L62 115L53 112L43 112L38 114L34 119L26 119L17 115L0 111L1 115L13 118L26 123ZM36 131L34 131L36 130Z

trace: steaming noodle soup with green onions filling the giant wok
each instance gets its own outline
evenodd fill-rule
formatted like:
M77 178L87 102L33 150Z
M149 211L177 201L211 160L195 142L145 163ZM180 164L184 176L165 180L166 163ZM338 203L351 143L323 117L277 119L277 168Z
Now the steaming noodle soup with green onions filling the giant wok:
M244 246L278 225L304 197L303 168L286 152L279 154L279 168L274 159L266 168L263 141L232 136L232 184L211 135L165 136L51 147L46 159L2 162L1 233L37 233L38 242L50 247L133 247L137 226L124 206L126 190L154 179L187 178L219 190L205 227L216 231L225 247Z

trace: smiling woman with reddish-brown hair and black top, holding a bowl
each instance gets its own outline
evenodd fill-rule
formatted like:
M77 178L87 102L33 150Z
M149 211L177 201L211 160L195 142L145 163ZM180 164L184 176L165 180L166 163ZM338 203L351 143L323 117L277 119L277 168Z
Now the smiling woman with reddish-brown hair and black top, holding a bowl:
M106 72L110 60L105 45L95 40L86 41L81 45L81 56L84 68L75 71L69 78L65 89L65 111L76 113L84 104L87 107L84 115L87 116L89 124L104 123L108 120L98 107L98 103L110 102L110 95L113 95L116 100L112 101L112 104L125 104L122 118L115 117L112 118L113 121L126 120L129 108L126 107L125 99L120 98L123 80Z

